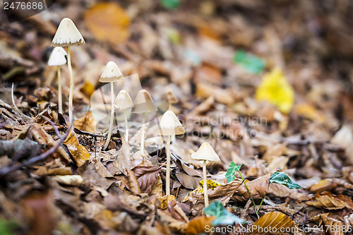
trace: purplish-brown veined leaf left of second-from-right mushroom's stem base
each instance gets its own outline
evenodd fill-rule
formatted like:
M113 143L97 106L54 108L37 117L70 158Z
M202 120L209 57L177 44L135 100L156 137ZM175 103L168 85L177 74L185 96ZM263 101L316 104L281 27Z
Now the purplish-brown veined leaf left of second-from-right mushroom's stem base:
M136 176L142 193L150 193L152 191L152 186L157 181L161 168L162 167L137 166L133 169L133 173Z

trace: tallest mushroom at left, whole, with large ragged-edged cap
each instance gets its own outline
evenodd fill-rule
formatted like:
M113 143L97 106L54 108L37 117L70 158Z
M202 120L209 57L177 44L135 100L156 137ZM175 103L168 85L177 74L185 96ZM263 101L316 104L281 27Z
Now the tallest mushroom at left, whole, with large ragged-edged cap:
M68 116L70 118L70 123L73 121L73 74L71 67L70 46L83 44L85 44L85 40L72 20L70 18L62 19L52 40L52 47L67 47L68 72L70 73L70 94L68 95Z

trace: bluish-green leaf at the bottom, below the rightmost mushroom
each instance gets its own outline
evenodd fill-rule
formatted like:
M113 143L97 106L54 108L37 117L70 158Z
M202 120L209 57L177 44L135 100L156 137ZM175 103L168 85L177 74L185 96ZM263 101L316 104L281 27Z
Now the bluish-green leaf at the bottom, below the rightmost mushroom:
M215 216L215 220L213 220L212 225L229 225L229 224L244 224L246 221L237 217L237 215L233 215L229 210L227 210L220 201L216 200L211 203L208 207L205 207L203 212L206 215Z

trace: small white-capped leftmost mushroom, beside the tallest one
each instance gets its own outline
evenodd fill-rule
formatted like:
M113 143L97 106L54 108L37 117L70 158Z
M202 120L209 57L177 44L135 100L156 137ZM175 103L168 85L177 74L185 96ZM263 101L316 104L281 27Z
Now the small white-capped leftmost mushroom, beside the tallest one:
M66 64L66 51L62 47L55 47L49 56L48 66L58 66L58 107L59 113L63 113L63 102L61 98L61 71L60 66Z

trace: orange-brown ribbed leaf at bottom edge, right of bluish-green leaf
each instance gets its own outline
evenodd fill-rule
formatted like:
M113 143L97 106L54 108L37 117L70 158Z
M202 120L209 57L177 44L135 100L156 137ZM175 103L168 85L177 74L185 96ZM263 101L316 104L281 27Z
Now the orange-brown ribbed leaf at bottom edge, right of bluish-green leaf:
M250 234L290 234L291 229L295 227L292 219L282 212L269 212L260 217L250 228ZM281 230L282 229L282 230ZM284 230L283 230L284 229ZM286 230L287 229L287 230ZM264 232L270 231L270 232ZM282 232L283 231L283 232Z

